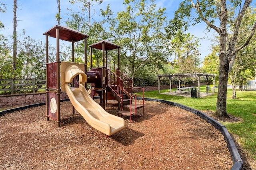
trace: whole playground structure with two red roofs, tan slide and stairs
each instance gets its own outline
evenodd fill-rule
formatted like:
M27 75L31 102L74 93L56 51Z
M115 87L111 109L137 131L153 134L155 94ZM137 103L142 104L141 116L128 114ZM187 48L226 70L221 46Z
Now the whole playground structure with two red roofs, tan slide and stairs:
M130 116L135 115L137 109L142 108L144 115L144 100L142 105L136 104L136 95L132 94L132 80L119 69L120 46L106 40L89 45L90 71L87 71L87 35L77 32L66 26L54 26L44 33L46 36L46 120L49 118L57 121L60 127L60 93L66 92L74 109L80 113L86 122L110 136L123 128L125 121L107 113L104 109L108 100L118 101L118 113ZM48 37L56 38L56 62L49 63ZM72 62L60 61L60 40L72 42ZM74 43L84 40L84 64L74 63ZM92 68L92 47L102 50L102 67ZM115 72L107 68L107 51L118 49L118 68ZM106 55L105 55L106 52ZM111 62L111 61L110 61ZM87 83L90 89L87 91ZM142 89L143 90L143 89ZM144 93L144 90L143 90ZM93 98L99 95L100 103ZM134 99L135 103L132 103ZM121 105L121 109L120 109Z

